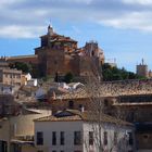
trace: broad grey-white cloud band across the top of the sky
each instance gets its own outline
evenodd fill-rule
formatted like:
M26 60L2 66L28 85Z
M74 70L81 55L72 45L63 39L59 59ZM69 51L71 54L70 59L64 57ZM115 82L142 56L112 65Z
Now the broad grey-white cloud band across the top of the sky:
M21 27L26 26L28 35L24 34L24 36L34 37L35 33L38 34L39 28L41 29L46 25L46 21L50 18L90 21L116 28L132 27L140 30L148 27L149 30L152 30L150 20L152 5L138 2L137 4L126 3L126 0L11 0L10 2L2 0L0 4L2 4L0 27L12 25L13 28L9 28L11 36L17 30L17 27L18 30L22 30ZM34 30L34 26L39 31ZM13 29L15 30L13 31ZM3 35L0 34L0 36Z

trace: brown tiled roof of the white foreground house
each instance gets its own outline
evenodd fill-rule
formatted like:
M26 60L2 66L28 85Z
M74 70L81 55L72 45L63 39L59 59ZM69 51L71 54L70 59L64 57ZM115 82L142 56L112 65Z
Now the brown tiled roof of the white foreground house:
M101 114L100 119L102 123L112 123L112 124L121 124L132 126L131 123L124 122L122 119ZM94 114L89 111L80 112L78 110L65 110L61 111L54 115L40 117L35 119L36 122L75 122L75 121L83 121L83 122L99 122L99 115Z

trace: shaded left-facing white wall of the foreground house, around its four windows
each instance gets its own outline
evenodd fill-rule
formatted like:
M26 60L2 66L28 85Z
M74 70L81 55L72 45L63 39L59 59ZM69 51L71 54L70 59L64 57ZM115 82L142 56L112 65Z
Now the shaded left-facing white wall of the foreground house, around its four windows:
M65 152L83 151L83 145L74 144L74 131L83 131L83 122L36 122L35 123L35 139L37 131L43 132L43 145L35 145L37 150L52 152L61 150ZM52 131L56 131L56 145L52 145ZM65 132L65 144L60 145L60 131ZM47 150L47 151L46 151Z

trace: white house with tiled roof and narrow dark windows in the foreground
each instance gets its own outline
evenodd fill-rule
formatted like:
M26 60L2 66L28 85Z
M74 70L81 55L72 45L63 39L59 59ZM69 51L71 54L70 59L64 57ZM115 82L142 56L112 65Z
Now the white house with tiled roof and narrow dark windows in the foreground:
M35 119L39 152L135 152L134 126L102 114L65 110Z

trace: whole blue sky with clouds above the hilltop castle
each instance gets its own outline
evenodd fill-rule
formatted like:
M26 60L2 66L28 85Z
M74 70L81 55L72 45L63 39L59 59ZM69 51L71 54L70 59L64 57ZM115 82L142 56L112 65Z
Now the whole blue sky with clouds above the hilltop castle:
M51 23L79 47L98 41L118 67L143 58L152 68L152 0L0 0L0 55L33 54Z

